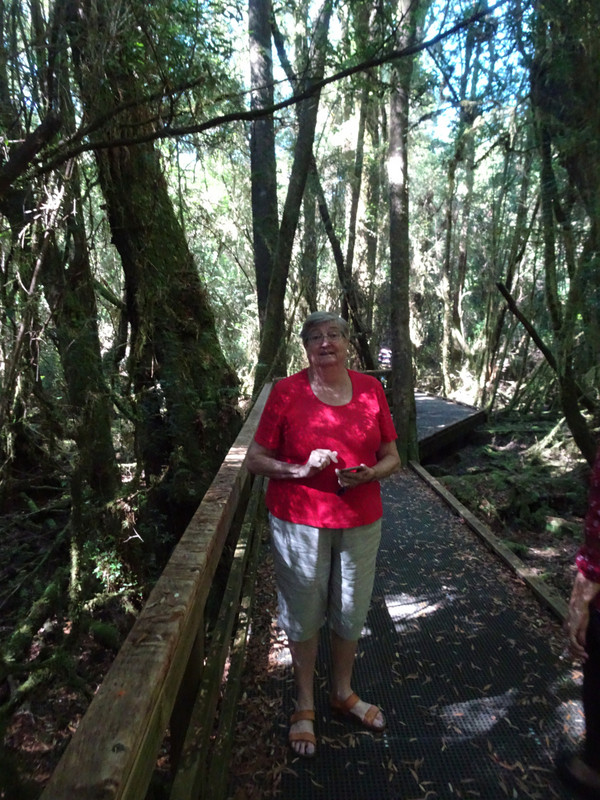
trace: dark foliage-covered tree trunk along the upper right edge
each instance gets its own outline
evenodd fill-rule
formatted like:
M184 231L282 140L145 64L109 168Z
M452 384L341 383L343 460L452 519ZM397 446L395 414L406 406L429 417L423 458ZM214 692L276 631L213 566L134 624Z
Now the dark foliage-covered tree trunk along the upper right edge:
M586 349L592 348L587 350L589 366L596 368L600 358L598 329L591 324L588 331L580 324L580 320L597 318L600 297L600 49L592 32L600 23L600 9L590 0L577 8L550 2L540 6L536 23L531 99L541 159L546 302L563 412L575 441L591 463L596 442L579 408L574 363L577 351L585 352L578 346L580 330L586 333ZM558 61L550 57L556 52L561 54ZM556 155L566 170L566 186L563 181L561 187L555 172ZM572 242L571 214L585 214L588 219L578 254ZM567 256L566 274L561 272L557 258L559 236ZM566 301L563 284L567 286ZM581 356L580 364L586 369Z

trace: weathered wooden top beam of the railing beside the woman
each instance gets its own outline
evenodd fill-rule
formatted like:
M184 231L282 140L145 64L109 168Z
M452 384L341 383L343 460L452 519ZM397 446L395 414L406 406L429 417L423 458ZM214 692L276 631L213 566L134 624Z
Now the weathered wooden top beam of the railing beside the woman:
M248 495L246 453L270 388L261 392L175 547L42 800L145 796L191 654L192 667L195 660L201 669L204 605L231 523Z

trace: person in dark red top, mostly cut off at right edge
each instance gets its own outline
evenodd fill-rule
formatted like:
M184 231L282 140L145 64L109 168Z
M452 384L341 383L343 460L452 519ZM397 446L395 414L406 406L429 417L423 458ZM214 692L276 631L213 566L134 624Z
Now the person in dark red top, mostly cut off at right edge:
M565 627L571 654L583 662L585 744L581 754L561 754L556 766L583 797L600 798L600 450L590 480L584 533Z

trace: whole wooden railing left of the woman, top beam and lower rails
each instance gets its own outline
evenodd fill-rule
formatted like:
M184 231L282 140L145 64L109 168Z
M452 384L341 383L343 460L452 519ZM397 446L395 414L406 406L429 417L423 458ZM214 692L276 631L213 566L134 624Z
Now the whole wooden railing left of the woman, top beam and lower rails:
M263 390L173 551L42 800L143 800L168 730L172 800L216 800L226 791L223 763L264 525L262 479L252 479L245 457L269 390ZM207 638L206 601L228 553L218 624ZM223 698L228 656L229 691Z

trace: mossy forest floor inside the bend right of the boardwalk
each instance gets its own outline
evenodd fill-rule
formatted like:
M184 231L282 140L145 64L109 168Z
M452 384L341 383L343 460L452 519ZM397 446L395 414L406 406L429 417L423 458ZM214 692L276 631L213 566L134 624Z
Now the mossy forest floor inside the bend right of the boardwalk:
M561 419L499 414L426 468L568 597L589 466Z

